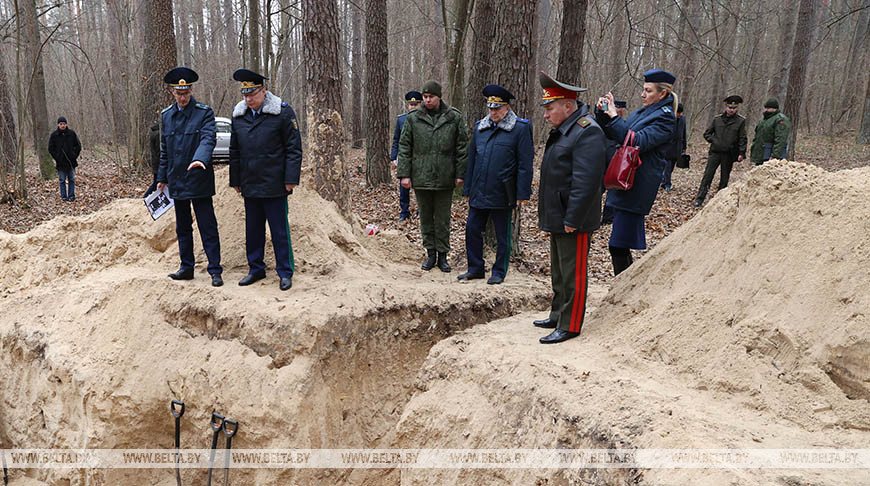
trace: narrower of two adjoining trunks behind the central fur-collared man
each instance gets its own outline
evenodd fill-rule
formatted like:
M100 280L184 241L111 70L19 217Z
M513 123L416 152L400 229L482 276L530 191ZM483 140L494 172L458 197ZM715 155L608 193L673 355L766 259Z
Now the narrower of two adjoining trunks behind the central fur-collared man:
M480 91L489 84L492 64L492 38L495 37L495 0L476 0L472 17L471 71L468 73L468 87L465 91L466 121L474 126L484 116L484 104Z

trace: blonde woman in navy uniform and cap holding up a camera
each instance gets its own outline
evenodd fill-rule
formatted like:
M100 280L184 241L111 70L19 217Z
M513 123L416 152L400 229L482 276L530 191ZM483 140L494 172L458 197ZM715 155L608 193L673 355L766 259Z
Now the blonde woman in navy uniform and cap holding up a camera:
M601 127L608 139L625 141L629 130L634 132L634 145L643 162L634 176L634 184L627 191L608 190L605 206L613 210L613 230L609 250L613 261L613 274L619 275L632 264L631 249L646 249L644 218L649 214L662 182L670 144L676 131L677 95L674 93L676 76L653 69L644 73L643 107L624 120L617 116L613 95L607 93L598 99L596 118L603 119Z

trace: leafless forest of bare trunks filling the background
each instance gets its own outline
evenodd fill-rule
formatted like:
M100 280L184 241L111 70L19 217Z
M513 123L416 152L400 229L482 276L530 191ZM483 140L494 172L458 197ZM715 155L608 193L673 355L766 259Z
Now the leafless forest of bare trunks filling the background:
M369 184L389 181L402 96L430 78L469 122L500 83L541 132L537 70L633 110L658 67L677 75L695 133L727 94L750 127L775 96L797 136L866 144L868 30L870 0L0 0L0 199L26 199L25 154L53 176L59 115L137 170L175 65L199 73L194 96L218 116L240 99L235 69L269 76L299 115L318 191L342 208L345 148L366 147Z

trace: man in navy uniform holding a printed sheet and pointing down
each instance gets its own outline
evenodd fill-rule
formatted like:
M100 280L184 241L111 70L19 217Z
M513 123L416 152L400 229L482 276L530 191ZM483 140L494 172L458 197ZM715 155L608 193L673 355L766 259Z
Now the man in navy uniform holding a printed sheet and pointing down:
M215 194L211 154L215 145L214 111L193 98L193 83L199 76L193 69L169 70L163 82L169 85L175 103L160 113L160 167L157 190L169 186L175 200L175 233L181 266L170 273L173 280L193 279L193 218L196 214L202 246L208 257L208 273L215 287L223 285L221 243L212 196Z

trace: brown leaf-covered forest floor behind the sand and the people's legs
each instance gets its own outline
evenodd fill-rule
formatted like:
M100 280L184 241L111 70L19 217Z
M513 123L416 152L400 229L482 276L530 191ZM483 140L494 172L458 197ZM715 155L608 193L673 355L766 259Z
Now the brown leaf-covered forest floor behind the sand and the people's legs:
M804 137L798 144L796 160L814 164L826 170L843 170L870 165L870 146L856 145L854 133L844 137ZM537 176L543 148L538 147L535 158L535 182L532 201L521 208L520 248L514 251L511 261L512 271L546 275L549 269L549 239L546 233L537 228ZM689 153L692 163L689 169L675 169L673 190L660 191L650 215L647 217L648 250L671 234L681 224L699 211L692 201L700 183L706 163L706 143L692 143ZM363 224L374 223L381 230L396 230L410 241L420 243L419 219L415 216L403 223L398 222L398 183L389 187L368 188L365 184L365 150L350 150L349 167L354 212ZM0 230L10 233L23 233L37 224L57 215L82 215L98 210L103 205L119 198L140 197L151 183L151 174L141 171L137 174L122 174L119 165L108 152L83 152L76 171L76 201L65 202L60 199L56 179L40 180L35 161L28 159L27 183L28 199L25 204L0 204ZM752 168L744 161L735 163L731 175L732 183L741 181ZM395 174L395 173L393 173ZM711 192L718 184L718 173ZM11 187L11 177L7 187ZM416 202L413 193L411 211L414 213ZM144 209L143 209L144 210ZM291 204L292 210L292 204ZM468 205L464 199L453 204L451 220L450 261L454 272L465 270L465 219ZM606 283L612 278L607 240L610 226L602 226L592 238L589 274L591 280ZM647 251L648 251L647 250ZM644 251L635 251L635 259L642 257ZM420 250L421 261L424 252ZM491 264L491 258L487 264Z

